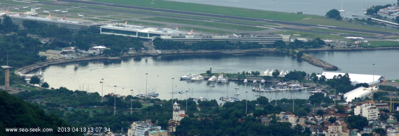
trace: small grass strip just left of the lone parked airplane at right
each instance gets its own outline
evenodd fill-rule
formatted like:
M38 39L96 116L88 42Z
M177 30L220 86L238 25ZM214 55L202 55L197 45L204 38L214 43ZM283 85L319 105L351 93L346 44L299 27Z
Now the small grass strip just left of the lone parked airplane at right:
M311 38L308 40L315 39L317 37L320 37L321 39L345 39L342 36L339 35L331 35L331 34L318 34L318 33L309 33L309 32L301 32L301 31L279 31L279 32L273 32L275 34L286 34L286 35L291 35L293 37L303 37L303 38ZM299 36L295 36L294 34L299 34Z

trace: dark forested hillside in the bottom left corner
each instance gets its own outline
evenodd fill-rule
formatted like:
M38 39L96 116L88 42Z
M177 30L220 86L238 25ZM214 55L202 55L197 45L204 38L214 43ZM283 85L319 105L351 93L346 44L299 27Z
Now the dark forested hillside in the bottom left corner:
M52 132L8 132L7 128L51 128ZM37 105L0 91L0 136L82 136L82 132L57 132L71 127L57 116L46 115Z

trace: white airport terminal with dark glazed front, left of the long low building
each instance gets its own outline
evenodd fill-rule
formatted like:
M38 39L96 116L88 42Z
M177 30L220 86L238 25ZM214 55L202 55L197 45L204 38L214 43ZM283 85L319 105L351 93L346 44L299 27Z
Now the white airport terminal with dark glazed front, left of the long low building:
M150 28L137 25L127 25L122 23L114 23L100 26L101 34L114 34L129 37L140 37L144 41L152 41L153 37L160 37L162 35L179 35L185 34L179 29L171 28Z

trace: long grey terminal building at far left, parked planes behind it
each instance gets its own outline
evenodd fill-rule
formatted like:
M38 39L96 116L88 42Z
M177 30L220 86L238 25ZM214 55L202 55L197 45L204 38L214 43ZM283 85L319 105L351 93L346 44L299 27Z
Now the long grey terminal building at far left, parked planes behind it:
M68 28L74 32L77 32L79 30L85 30L89 27L99 26L98 24L94 24L91 22L62 20L62 19L35 17L35 16L27 16L27 15L11 16L12 23L17 24L18 26L23 25L22 22L25 20L36 21L36 22L45 23L48 25L57 25L59 27Z

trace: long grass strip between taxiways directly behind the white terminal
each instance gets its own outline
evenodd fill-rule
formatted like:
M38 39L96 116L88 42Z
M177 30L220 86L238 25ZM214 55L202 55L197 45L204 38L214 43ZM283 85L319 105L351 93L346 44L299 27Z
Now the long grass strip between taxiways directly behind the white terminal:
M236 30L245 30L245 31L268 30L268 28L262 28L262 27L253 27L253 26L244 26L244 25L235 25L235 24L224 24L224 23L217 23L217 22L196 21L196 20L179 19L179 18L168 18L168 17L144 18L142 20L151 20L151 21L162 21L162 22L170 22L170 23L199 25L199 26L223 28L223 29L230 29L230 30L235 30L235 29Z

